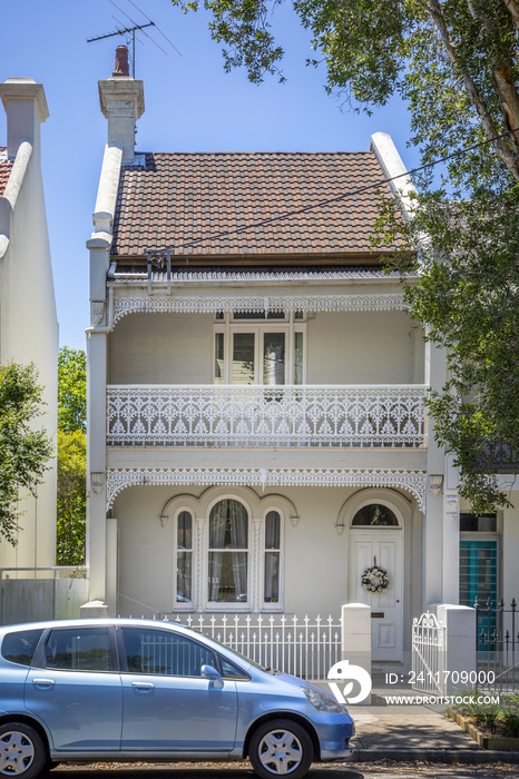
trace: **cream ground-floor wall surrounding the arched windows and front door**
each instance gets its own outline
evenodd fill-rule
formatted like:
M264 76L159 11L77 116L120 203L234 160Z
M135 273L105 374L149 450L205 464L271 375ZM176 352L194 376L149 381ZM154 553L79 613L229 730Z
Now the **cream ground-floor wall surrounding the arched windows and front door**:
M174 593L174 522L163 527L159 516L176 494L199 496L205 491L178 487L130 487L116 500L112 516L119 526L119 613L150 617L172 612ZM232 490L229 489L229 493ZM295 505L300 520L284 525L284 613L339 618L347 594L347 527L339 535L337 515L355 490L339 487L276 489ZM385 494L389 495L391 491ZM270 494L257 492L260 499ZM404 493L401 493L404 495ZM421 601L421 514L410 505L404 523L404 624L419 615ZM410 634L404 632L404 649Z

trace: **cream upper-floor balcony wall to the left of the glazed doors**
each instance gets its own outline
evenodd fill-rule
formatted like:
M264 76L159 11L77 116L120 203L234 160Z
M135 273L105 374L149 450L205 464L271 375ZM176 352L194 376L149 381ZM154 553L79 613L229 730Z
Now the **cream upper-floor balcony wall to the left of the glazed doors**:
M133 314L110 334L110 384L210 384L213 322L200 314Z

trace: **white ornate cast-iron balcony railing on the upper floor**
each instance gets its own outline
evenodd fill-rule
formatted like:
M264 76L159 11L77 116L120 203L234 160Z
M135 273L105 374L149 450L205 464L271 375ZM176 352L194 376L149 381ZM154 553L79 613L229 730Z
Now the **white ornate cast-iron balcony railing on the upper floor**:
M110 446L421 446L427 388L109 386Z

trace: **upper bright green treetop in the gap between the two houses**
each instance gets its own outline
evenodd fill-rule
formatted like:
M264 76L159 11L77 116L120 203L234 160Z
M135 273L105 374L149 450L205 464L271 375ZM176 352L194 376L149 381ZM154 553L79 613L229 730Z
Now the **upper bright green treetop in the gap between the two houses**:
M82 349L68 346L58 357L58 427L87 431L87 358Z

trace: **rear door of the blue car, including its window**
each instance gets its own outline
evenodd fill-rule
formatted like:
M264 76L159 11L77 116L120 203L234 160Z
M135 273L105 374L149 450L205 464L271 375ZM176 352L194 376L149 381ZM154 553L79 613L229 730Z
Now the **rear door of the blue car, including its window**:
M112 631L106 625L55 628L35 664L25 703L48 728L53 748L118 751L123 690Z

